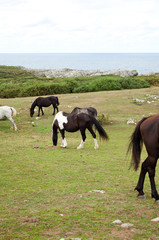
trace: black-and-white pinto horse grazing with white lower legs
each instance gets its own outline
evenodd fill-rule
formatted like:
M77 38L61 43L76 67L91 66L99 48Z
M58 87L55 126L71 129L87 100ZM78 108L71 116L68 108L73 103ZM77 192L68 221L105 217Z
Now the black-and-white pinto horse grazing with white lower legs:
M57 145L58 140L58 129L62 136L62 145L61 147L65 148L67 146L66 138L65 138L65 131L67 132L76 132L80 130L82 135L82 141L80 145L77 147L77 149L81 149L84 146L85 140L86 140L86 129L89 130L89 132L92 134L92 137L94 139L94 149L98 149L98 143L96 139L96 134L93 131L93 125L95 125L99 135L104 139L108 140L108 135L103 129L103 127L100 125L100 123L97 121L96 118L93 116L84 113L79 112L77 113L75 111L72 111L71 113L65 113L65 112L58 112L54 118L53 125L52 125L52 141L53 145Z

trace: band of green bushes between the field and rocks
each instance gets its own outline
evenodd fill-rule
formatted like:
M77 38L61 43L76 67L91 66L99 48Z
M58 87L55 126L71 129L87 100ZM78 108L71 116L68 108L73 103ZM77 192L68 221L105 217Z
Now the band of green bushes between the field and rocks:
M46 78L37 77L21 67L0 66L1 98L137 89L158 86L158 84L159 76L155 75Z

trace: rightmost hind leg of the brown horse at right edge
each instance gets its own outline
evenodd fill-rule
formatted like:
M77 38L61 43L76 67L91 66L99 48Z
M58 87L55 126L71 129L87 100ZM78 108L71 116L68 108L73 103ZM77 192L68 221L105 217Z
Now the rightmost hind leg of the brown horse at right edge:
M155 168L156 168L156 163L157 159L156 158L150 158L150 165L148 166L148 174L149 174L149 179L150 179L150 184L151 184L151 196L152 198L155 198L157 202L159 202L159 195L156 189L156 184L155 184Z

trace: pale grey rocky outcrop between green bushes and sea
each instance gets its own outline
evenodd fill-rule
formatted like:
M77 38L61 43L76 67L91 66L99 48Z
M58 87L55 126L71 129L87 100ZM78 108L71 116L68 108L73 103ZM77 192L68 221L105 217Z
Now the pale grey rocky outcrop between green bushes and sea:
M30 70L30 69L29 69ZM106 70L106 71L99 71L99 70L75 70L69 68L63 69L34 69L30 70L33 74L38 77L47 77L47 78L65 78L65 77L80 77L80 76L101 76L101 75L118 75L121 77L128 77L128 76L137 76L138 72L136 70Z

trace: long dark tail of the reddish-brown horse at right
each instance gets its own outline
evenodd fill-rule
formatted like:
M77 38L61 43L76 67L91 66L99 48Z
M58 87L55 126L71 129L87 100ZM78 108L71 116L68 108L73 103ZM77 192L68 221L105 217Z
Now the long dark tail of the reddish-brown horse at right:
M138 122L134 132L132 133L132 135L130 137L130 143L129 143L128 150L127 150L127 154L129 151L132 152L132 160L131 160L130 167L133 166L135 171L139 167L140 155L141 155L141 150L142 150L142 145L143 145L140 126L147 118L148 117L145 117Z

